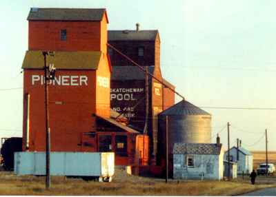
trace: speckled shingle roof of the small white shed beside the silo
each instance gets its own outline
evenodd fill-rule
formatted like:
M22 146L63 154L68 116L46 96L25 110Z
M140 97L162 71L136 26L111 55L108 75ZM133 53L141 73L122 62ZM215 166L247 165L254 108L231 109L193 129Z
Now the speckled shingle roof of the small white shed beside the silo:
M221 144L175 143L173 154L220 154L221 147Z

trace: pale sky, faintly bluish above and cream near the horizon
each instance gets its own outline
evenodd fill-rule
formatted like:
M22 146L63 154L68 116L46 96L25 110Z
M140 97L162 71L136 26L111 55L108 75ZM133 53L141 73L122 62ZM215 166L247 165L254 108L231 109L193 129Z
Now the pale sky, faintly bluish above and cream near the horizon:
M106 8L110 30L134 29L137 22L141 29L158 29L163 76L199 107L276 108L276 1L3 0L0 137L21 136L22 90L3 89L23 86L31 7ZM230 122L231 145L241 138L244 147L264 150L267 128L268 149L276 149L276 110L203 109L213 115L213 136L220 132L224 145Z

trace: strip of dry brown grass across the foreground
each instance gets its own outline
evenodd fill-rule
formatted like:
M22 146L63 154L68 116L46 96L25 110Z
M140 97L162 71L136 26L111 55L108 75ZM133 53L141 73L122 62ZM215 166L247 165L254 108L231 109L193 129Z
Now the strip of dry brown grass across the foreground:
M145 195L145 196L232 196L264 187L275 187L275 180L257 180L250 185L244 180L169 180L128 176L117 170L111 183L86 182L78 178L52 177L50 190L45 190L44 178L14 176L11 172L0 172L0 195Z

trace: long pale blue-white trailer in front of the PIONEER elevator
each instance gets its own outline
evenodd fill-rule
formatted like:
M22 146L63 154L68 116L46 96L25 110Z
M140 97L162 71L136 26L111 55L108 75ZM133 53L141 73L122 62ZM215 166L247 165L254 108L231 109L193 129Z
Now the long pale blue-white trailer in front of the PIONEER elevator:
M14 174L45 175L45 152L14 153ZM50 175L99 177L111 180L115 169L112 152L51 152Z

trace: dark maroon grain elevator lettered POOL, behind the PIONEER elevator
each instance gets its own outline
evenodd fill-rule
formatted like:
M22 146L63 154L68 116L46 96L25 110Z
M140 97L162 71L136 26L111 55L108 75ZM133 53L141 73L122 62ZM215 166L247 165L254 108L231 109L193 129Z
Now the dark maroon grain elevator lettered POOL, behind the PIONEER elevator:
M108 43L126 54L148 72L172 89L175 86L164 80L160 68L160 37L158 30L108 30ZM110 106L124 114L131 127L144 132L146 123L146 74L123 56L108 48L112 64ZM157 114L175 104L175 93L148 77L148 136L150 157L157 155Z

